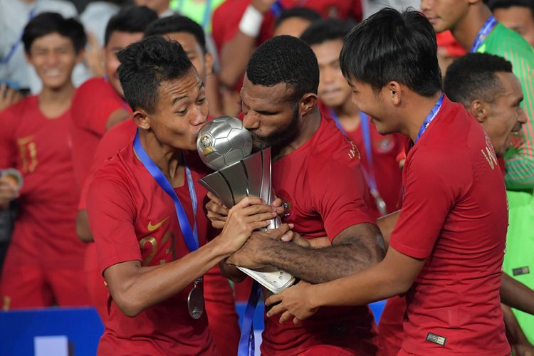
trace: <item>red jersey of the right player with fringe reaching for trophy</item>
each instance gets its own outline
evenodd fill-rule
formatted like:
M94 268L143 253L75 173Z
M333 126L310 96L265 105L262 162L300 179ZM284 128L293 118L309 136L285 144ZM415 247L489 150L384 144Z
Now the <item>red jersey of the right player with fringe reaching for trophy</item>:
M407 153L389 246L426 263L407 293L403 352L506 355L499 298L506 190L489 138L461 104L441 110Z

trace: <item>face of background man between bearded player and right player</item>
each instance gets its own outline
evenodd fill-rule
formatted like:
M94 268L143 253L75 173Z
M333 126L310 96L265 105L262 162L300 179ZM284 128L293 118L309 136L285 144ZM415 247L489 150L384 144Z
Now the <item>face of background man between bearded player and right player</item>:
M343 41L333 40L311 46L319 63L320 100L328 107L344 105L350 101L352 90L340 68L340 52Z

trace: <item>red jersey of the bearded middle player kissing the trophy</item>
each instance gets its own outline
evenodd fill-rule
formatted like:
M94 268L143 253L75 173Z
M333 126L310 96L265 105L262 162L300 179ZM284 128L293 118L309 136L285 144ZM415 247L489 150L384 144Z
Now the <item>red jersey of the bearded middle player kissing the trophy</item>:
M365 203L367 187L352 142L333 120L321 118L313 137L273 162L275 194L288 206L285 223L305 238L335 236L347 227L374 223ZM375 323L367 306L320 308L299 326L266 318L261 352L295 355L317 345L346 347L372 355Z

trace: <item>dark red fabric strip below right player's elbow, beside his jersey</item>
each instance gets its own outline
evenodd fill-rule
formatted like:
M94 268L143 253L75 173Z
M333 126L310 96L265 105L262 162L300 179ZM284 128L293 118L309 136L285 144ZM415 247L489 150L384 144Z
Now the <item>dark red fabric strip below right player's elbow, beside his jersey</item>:
M395 295L389 298L378 323L377 356L391 356L399 353L404 331L402 322L406 312L406 298Z

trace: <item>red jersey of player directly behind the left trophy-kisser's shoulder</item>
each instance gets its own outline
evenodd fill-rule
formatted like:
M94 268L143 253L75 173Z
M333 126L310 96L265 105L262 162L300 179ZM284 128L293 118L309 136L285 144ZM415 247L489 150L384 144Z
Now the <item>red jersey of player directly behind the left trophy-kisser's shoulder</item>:
M130 107L103 78L90 79L76 90L70 137L78 190L82 189L89 175L90 162L93 162L98 142L106 131L108 118L112 112L119 109L130 110Z

